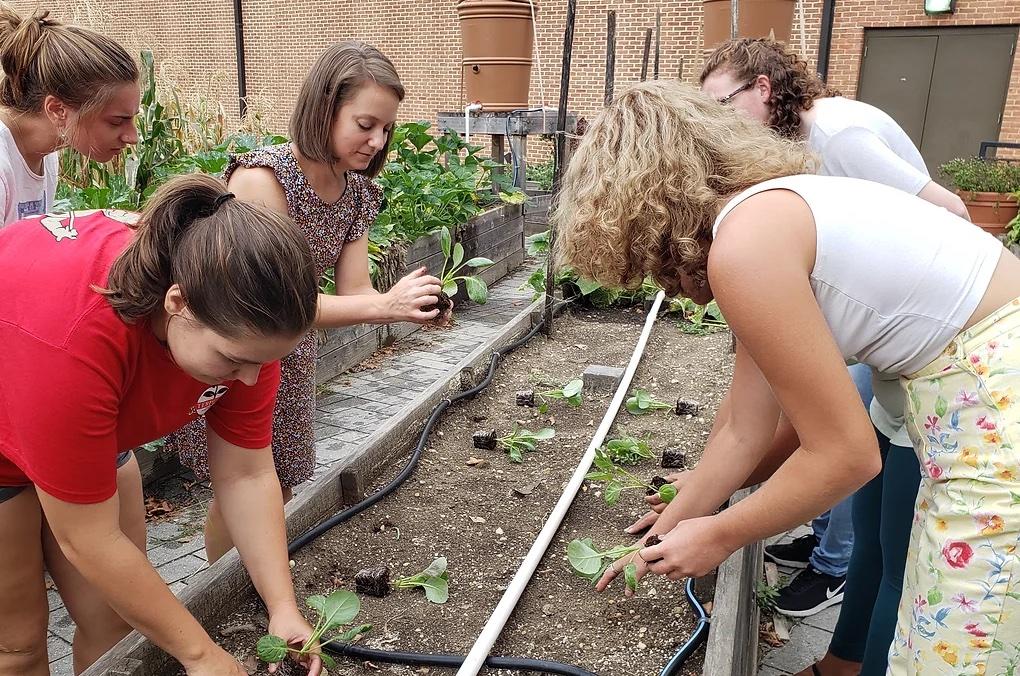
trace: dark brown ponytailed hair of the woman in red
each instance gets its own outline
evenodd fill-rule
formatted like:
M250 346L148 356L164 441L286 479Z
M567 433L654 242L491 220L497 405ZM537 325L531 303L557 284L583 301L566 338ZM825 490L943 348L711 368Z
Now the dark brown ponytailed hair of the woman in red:
M122 319L150 316L176 283L195 318L220 335L311 327L318 280L307 239L288 216L224 191L217 178L189 174L152 196L106 289L96 289Z

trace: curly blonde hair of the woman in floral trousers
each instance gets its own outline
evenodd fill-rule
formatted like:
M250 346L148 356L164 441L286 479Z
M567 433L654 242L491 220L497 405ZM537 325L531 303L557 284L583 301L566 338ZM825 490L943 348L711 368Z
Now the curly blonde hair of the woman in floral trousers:
M712 224L727 199L815 159L742 112L676 81L636 85L592 122L552 216L557 262L609 287L648 274L670 295L706 278Z

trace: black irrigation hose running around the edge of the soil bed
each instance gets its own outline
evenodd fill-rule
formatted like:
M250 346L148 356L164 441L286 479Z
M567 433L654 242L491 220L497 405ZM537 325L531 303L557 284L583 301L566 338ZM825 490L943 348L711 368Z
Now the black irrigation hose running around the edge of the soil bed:
M569 303L570 301L563 301L564 303ZM402 484L407 478L414 473L414 470L418 466L418 461L421 459L421 454L425 450L425 446L428 443L428 435L436 426L443 412L450 408L456 402L463 399L470 399L474 397L493 381L496 376L496 368L499 366L500 360L507 356L517 348L521 347L532 337L534 334L542 330L545 325L545 319L536 323L527 333L524 334L518 341L511 343L502 350L497 350L493 353L492 359L489 362L489 372L486 377L481 379L481 382L466 389L460 394L457 394L450 399L445 399L436 405L432 409L431 415L428 416L428 420L425 422L424 428L421 430L421 436L418 437L418 445L414 448L414 452L411 454L410 459L407 461L404 469L400 471L390 483L386 484L375 492L373 492L368 498L357 505L353 505L343 512L335 514L322 523L310 528L307 532L295 537L287 547L288 554L291 556L295 552L305 547L312 540L316 539L327 530L332 529L334 526L338 526L345 521L350 520L354 516L364 512L369 507L379 502L394 490L396 490L400 484ZM674 676L679 672L679 669L683 667L687 658L698 649L698 646L704 642L708 635L708 615L705 613L705 609L698 602L698 599L694 593L694 581L687 580L686 584L686 596L687 602L691 607L698 614L698 626L695 628L694 633L686 640L686 642L680 646L679 652L673 656L672 659L663 668L660 676ZM352 645L350 643L342 643L340 641L332 640L322 645L322 648L328 653L344 656L353 657L361 660L374 660L376 662L391 662L397 664L417 664L417 665L428 665L437 667L451 667L456 668L464 663L466 659L464 656L459 655L435 655L435 654L424 654L424 653L401 653L396 651L377 651L368 647L361 647L357 645ZM528 658L486 658L486 666L493 669L515 669L521 671L536 671L546 674L567 674L568 676L598 676L593 672L581 669L580 667L575 667L574 665L563 664L560 662L551 662L546 660L532 660Z

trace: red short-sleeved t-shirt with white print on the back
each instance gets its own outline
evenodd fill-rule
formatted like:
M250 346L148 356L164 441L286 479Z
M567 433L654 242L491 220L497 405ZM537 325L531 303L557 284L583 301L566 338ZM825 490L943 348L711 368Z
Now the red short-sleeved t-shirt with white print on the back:
M231 444L270 445L278 362L253 386L209 386L174 365L148 321L125 323L90 288L105 285L136 218L78 212L0 229L0 486L102 502L119 452L200 415Z

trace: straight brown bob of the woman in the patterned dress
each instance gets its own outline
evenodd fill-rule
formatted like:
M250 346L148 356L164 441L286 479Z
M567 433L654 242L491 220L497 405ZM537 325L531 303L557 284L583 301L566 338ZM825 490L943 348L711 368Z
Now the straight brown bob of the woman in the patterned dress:
M326 164L337 162L329 143L337 112L367 82L386 87L398 100L404 100L404 86L393 62L371 45L342 42L318 57L301 85L291 115L291 139L302 155ZM378 175L386 164L392 140L393 129L390 129L386 146L359 173Z

